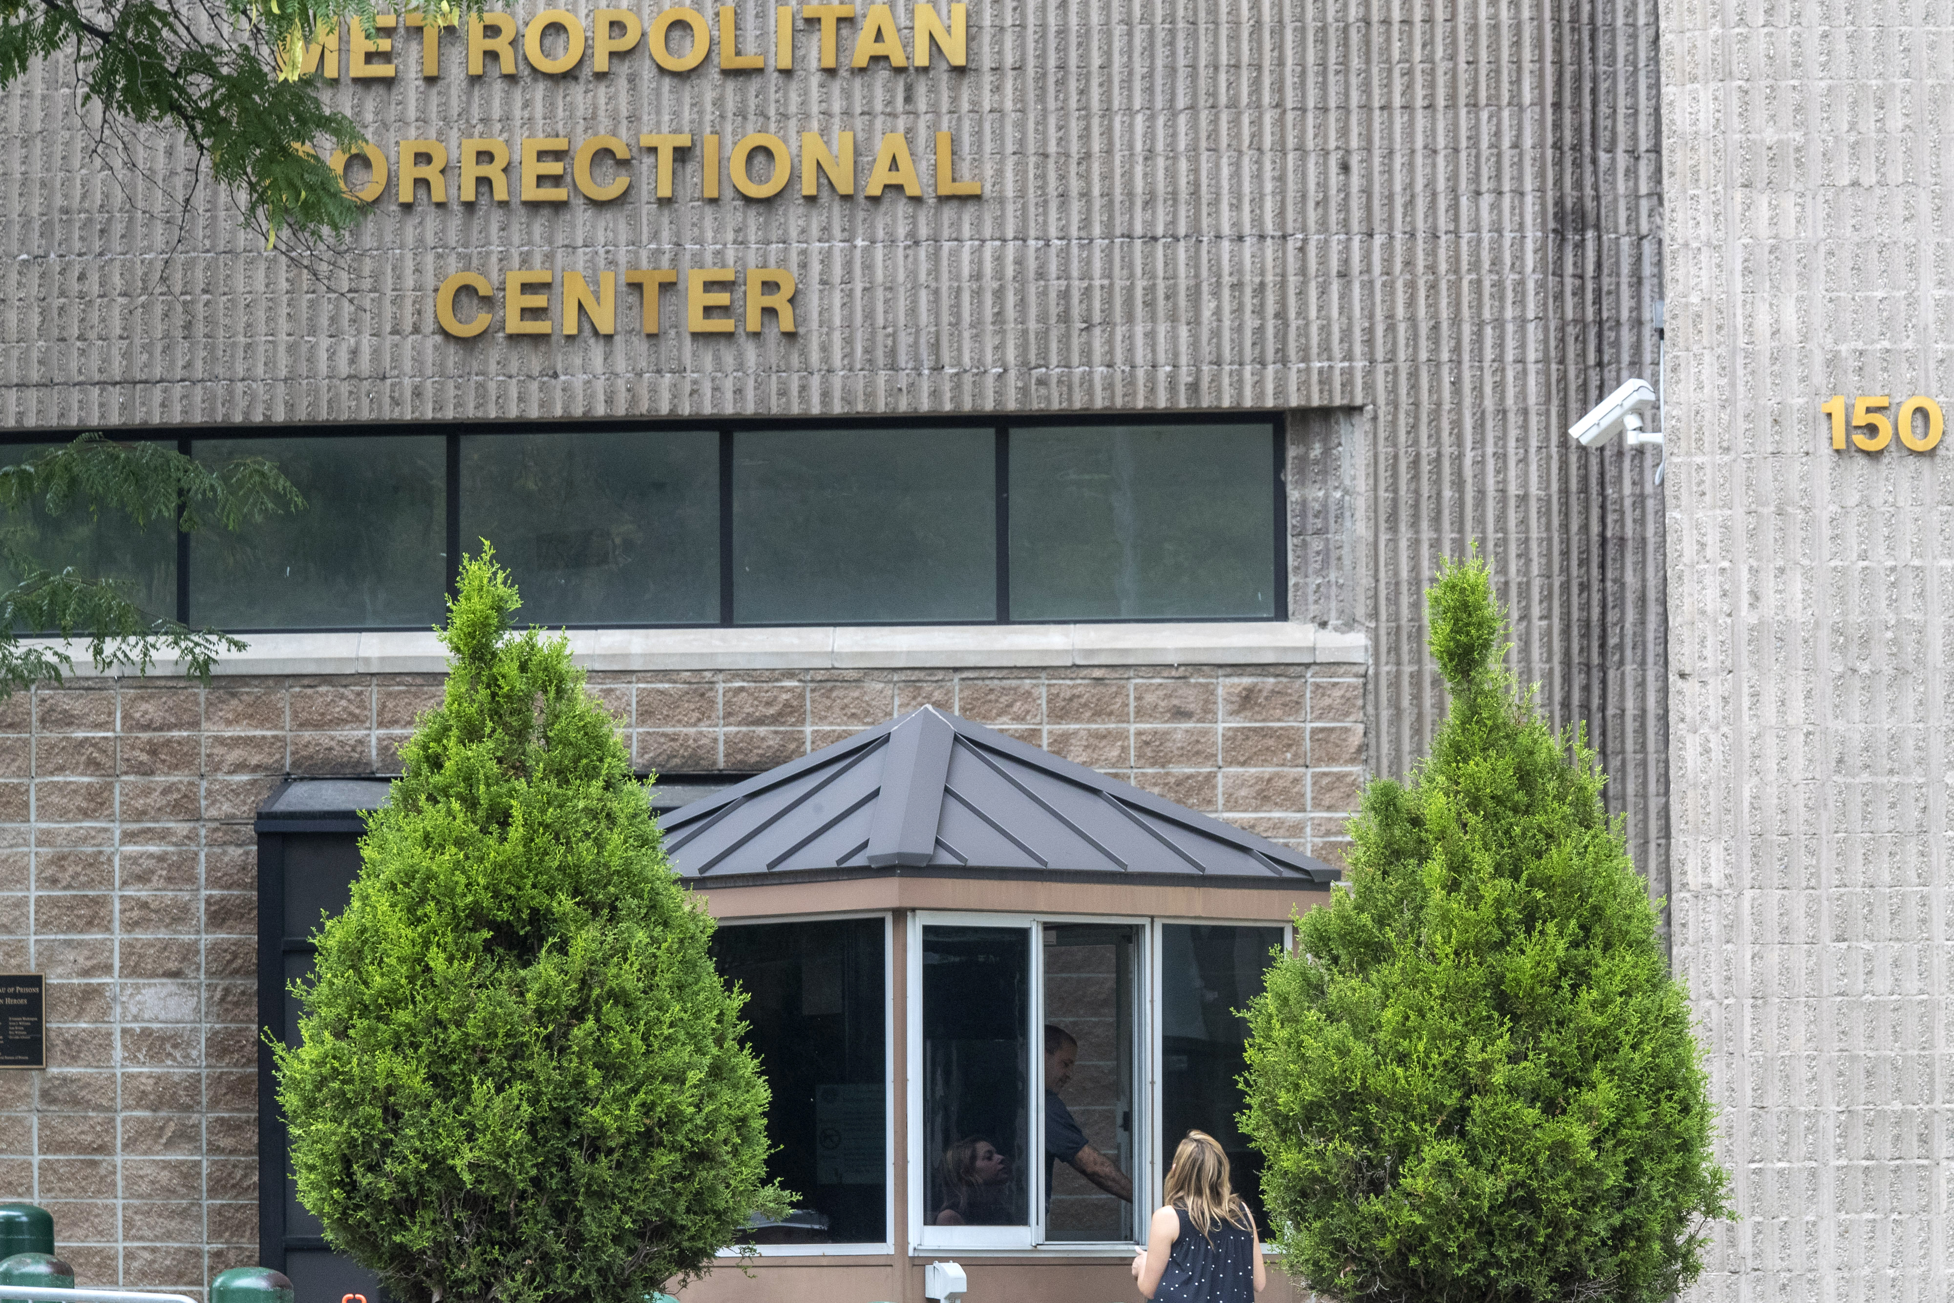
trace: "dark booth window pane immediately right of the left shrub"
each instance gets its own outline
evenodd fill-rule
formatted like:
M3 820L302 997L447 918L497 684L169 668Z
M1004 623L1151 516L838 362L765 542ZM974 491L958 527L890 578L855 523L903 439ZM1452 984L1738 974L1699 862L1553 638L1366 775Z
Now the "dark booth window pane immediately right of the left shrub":
M889 1239L883 920L721 926L713 961L746 992L746 1043L774 1092L768 1178L799 1196L758 1244Z

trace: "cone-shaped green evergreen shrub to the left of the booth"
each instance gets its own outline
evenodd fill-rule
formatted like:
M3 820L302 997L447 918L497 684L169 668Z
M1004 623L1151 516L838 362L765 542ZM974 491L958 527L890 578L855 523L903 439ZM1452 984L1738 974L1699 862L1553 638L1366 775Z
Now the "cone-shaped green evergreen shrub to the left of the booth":
M299 1199L403 1303L639 1303L764 1188L768 1088L713 920L565 639L467 561L442 705L367 819L274 1047Z

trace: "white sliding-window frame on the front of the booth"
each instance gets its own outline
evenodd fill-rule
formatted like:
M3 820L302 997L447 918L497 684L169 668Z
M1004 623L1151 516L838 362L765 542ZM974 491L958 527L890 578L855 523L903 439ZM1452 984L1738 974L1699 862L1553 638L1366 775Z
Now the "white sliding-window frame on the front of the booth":
M922 930L926 926L950 928L1024 928L1032 940L1030 985L1034 992L1043 992L1043 946L1038 944L1043 924L1139 924L1145 947L1139 955L1139 1028L1135 1035L1135 1170L1133 1194L1147 1211L1159 1207L1161 1182L1167 1178L1159 1119L1161 1106L1161 977L1163 977L1163 930L1174 924L1215 926L1215 928L1272 928L1282 934L1282 949L1296 951L1296 926L1274 918L1192 918L1186 914L1065 914L1065 912L987 912L987 910L911 910L907 918L905 944L905 1123L909 1155L909 1252L957 1252L957 1254L1069 1254L1069 1256L1127 1256L1133 1252L1131 1239L1118 1240L1047 1240L1045 1239L1045 1057L1043 1045L1043 998L1030 1002L1032 1037L1032 1080L1030 1080L1030 1141L1024 1156L1030 1180L1030 1223L1028 1227L934 1227L928 1223L928 1170L922 1153ZM1135 1209L1135 1223L1137 1223Z

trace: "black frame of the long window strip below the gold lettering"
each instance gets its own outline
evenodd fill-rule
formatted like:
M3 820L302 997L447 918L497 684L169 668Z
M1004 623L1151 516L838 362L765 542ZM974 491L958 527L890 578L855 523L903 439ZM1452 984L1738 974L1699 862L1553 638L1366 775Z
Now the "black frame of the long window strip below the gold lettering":
M1262 426L1270 432L1270 492L1274 502L1274 531L1270 537L1270 584L1272 602L1268 615L1120 615L1120 617L1051 617L1051 619L1012 619L1010 617L1010 432L1012 430L1034 430L1051 426L1186 426L1186 424L1215 424L1215 426ZM733 619L733 447L737 436L748 430L766 432L797 432L797 434L821 434L834 430L877 430L877 428L905 428L905 430L991 430L995 434L995 539L997 549L997 604L991 619L881 619L881 621L784 621L784 623L737 623ZM408 428L401 426L319 426L319 424L289 424L277 426L274 430L260 426L182 426L168 434L158 432L115 432L109 434L117 438L137 438L150 441L176 443L176 449L184 455L193 455L197 443L225 441L236 445L240 451L248 451L252 440L332 440L332 438L373 438L373 436L442 436L446 438L446 531L444 547L447 557L446 567L446 596L455 596L455 574L461 561L461 551L465 539L461 537L461 440L463 438L496 438L496 436L533 436L533 434L700 434L715 432L719 436L719 619L711 621L674 621L674 623L655 623L655 621L617 621L617 623L578 623L565 625L569 629L821 629L821 627L868 627L868 629L905 629L905 627L967 627L967 625L1147 625L1147 623L1286 623L1290 619L1290 510L1288 510L1288 424L1286 414L1280 410L1239 410L1239 412L1202 412L1202 410L1137 410L1137 412L1036 412L1036 414L1014 414L1014 412L985 412L967 416L852 416L852 418L815 418L815 420L758 420L758 418L717 418L717 420L524 420L524 422L414 422ZM61 443L64 432L8 432L0 434L0 461L6 459L8 445L14 443ZM176 535L176 619L190 621L190 596L191 596L191 559L190 559L190 535ZM277 627L258 627L258 625L238 625L227 629L227 633L424 633L424 625L277 625Z

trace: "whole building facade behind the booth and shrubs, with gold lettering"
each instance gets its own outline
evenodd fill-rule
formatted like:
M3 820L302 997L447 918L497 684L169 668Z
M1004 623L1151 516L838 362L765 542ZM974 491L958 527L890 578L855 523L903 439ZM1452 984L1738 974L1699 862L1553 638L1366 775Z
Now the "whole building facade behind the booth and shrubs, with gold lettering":
M342 29L373 213L289 256L39 68L4 438L313 506L80 539L250 651L0 705L0 969L55 1022L0 1192L88 1283L260 1258L260 809L397 770L477 537L674 791L936 705L1329 862L1442 717L1423 588L1477 541L1671 901L1745 1217L1698 1293L1944 1293L1950 490L1850 418L1938 397L1946 31L1727 8ZM1567 440L1665 369L1661 484Z

